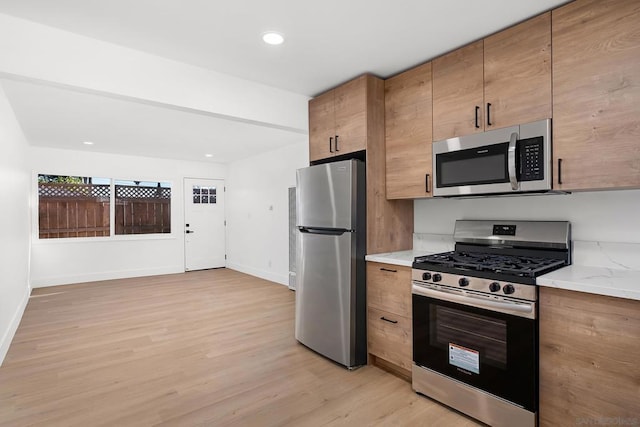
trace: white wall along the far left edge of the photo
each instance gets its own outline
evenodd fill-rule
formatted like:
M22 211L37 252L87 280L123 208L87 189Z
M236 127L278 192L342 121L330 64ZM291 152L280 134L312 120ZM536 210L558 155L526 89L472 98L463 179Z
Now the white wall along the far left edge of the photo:
M0 364L29 299L27 142L0 85Z

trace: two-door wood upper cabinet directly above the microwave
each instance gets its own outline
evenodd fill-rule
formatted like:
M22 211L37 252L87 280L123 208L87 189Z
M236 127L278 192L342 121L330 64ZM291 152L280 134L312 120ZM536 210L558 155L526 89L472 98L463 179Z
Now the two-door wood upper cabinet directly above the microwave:
M433 61L433 140L551 117L551 13Z

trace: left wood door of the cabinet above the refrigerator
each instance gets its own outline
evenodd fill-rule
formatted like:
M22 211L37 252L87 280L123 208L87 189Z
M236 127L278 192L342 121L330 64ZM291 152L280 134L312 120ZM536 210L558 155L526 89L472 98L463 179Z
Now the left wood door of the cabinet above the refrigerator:
M333 155L333 138L335 137L333 98L334 92L329 91L309 101L309 159L311 161Z

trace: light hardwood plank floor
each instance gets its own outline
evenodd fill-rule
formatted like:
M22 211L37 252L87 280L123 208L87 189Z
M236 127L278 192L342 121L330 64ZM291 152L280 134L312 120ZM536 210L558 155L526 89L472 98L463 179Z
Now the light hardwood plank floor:
M35 289L0 367L0 425L476 425L297 343L294 300L227 269Z

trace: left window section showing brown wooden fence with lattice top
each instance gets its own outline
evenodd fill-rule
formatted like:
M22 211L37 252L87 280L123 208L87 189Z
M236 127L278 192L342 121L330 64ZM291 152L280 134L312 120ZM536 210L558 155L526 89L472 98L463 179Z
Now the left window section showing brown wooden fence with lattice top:
M108 179L38 175L38 224L41 239L110 234Z

